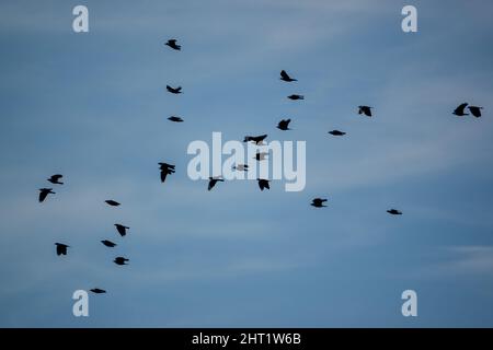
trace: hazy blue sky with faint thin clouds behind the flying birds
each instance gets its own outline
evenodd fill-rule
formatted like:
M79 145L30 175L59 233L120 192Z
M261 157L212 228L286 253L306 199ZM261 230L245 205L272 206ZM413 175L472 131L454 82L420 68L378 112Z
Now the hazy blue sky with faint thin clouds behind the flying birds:
M89 33L72 31L77 4ZM417 33L401 30L405 4ZM1 1L0 326L493 326L492 11L486 0ZM173 37L182 51L163 46ZM299 81L279 81L282 69ZM462 102L483 118L451 115ZM286 117L295 130L275 128ZM186 148L213 131L306 141L305 190L207 191L187 177ZM164 185L162 161L176 164ZM39 205L56 173L66 184ZM94 287L107 294L74 317L73 291ZM406 289L419 317L401 314Z

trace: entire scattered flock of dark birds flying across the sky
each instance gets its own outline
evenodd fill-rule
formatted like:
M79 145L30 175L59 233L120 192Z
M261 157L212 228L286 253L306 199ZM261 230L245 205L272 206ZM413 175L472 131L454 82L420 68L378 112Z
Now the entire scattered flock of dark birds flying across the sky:
M169 39L164 45L169 46L170 48L172 48L173 50L181 50L181 45L177 45L176 39ZM280 80L284 82L296 82L298 81L297 79L291 78L285 70L280 71ZM167 91L172 93L172 94L181 94L182 93L182 86L177 86L177 88L172 88L170 85L167 85ZM293 101L299 101L299 100L305 100L305 96L302 95L298 95L298 94L291 94L289 96L287 96L287 98L293 100ZM479 106L471 106L468 103L462 103L460 104L454 112L452 114L459 117L463 117L463 116L468 116L469 114L466 113L466 108L469 109L469 112L475 117L479 118L481 117L481 109L482 107ZM366 117L372 117L372 113L371 113L372 107L369 106L358 106L358 114L359 115L364 115ZM180 117L176 116L171 116L168 118L171 121L174 122L183 122L184 120ZM278 122L277 128L279 130L283 131L287 131L287 130L291 130L289 129L289 122L291 121L291 119L283 119ZM332 130L329 131L330 135L334 136L334 137L343 137L346 135L346 132L344 131L340 131L340 130ZM243 142L253 142L256 145L262 145L263 141L267 138L267 135L261 135L261 136L245 136ZM264 161L266 159L266 155L268 153L267 152L257 152L255 160L256 161ZM161 183L164 183L167 179L168 175L171 175L175 172L175 165L173 164L168 164L168 163L158 163L159 164L159 170L160 170L160 177L161 177ZM239 172L248 172L249 171L249 165L248 164L237 164L233 165L233 170L239 171ZM61 174L55 174L51 175L47 180L54 185L64 185L62 182L60 182L60 179L64 176ZM220 176L211 176L209 177L209 182L208 182L208 186L207 186L207 190L211 190L216 184L218 182L223 182L223 179ZM259 184L259 188L261 190L264 189L270 189L270 180L265 179L265 178L257 178L257 184ZM43 202L46 200L46 198L48 197L48 195L55 195L56 192L53 191L53 188L39 188L39 197L38 200L39 202ZM324 208L326 207L326 205L324 205L328 201L326 198L313 198L312 202L310 203L310 206L314 207L314 208ZM119 206L119 202L113 200L113 199L108 199L105 201L106 205L112 206L112 207L117 207ZM398 209L389 209L387 210L387 212L391 215L402 215L402 211L398 210ZM118 234L123 237L127 234L127 230L129 230L128 226L125 226L121 223L115 223L115 228L116 231L118 232ZM104 240L101 241L101 243L108 247L108 248L113 248L115 247L117 244L108 241L108 240ZM56 245L56 254L58 256L61 255L67 255L67 248L69 248L70 246L64 243L55 243ZM123 257L123 256L117 256L115 257L115 259L113 260L113 262L115 262L116 265L127 265L127 262L129 261L129 259ZM96 294L101 294L101 293L106 293L105 290L100 289L100 288L93 288L90 290L93 293Z

